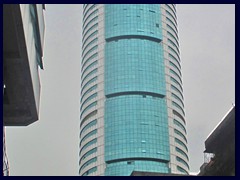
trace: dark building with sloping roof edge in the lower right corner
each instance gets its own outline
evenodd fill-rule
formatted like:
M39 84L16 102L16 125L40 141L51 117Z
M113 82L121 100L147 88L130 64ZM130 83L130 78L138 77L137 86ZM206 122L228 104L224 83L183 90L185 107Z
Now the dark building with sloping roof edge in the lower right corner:
M204 156L198 176L235 175L235 106L208 136Z

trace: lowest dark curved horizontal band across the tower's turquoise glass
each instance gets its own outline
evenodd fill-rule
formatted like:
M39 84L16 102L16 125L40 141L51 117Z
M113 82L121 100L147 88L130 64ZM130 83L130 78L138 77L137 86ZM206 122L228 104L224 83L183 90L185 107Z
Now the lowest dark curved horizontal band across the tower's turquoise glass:
M155 161L155 162L161 162L161 163L169 162L169 160L165 160L165 159L148 158L148 157L133 157L133 158L114 159L114 160L106 161L106 163L111 164L111 163L122 162L122 161L128 161L129 163L131 163L131 161Z

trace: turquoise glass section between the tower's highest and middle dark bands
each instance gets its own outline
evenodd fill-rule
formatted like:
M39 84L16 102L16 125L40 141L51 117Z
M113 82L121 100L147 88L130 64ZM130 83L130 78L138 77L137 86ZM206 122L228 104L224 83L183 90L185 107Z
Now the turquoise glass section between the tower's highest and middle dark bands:
M164 96L162 47L147 39L119 39L106 43L105 94L148 92Z

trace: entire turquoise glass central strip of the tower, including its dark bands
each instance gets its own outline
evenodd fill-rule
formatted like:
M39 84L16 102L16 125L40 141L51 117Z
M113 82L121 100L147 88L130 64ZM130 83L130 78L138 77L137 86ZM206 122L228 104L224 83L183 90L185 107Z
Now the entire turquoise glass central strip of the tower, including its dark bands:
M105 5L105 40L105 175L169 173L160 5Z

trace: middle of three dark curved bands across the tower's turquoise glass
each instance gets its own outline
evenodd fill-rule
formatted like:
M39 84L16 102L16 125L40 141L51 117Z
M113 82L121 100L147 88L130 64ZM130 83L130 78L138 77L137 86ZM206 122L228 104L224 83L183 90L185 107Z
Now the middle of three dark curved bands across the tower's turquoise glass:
M107 98L117 97L117 96L127 96L127 95L142 95L142 96L152 96L157 98L164 98L165 95L153 93L153 92L145 92L145 91L125 91L125 92L119 92L119 93L113 93L113 94L107 94L105 95Z

